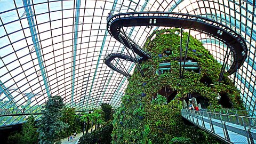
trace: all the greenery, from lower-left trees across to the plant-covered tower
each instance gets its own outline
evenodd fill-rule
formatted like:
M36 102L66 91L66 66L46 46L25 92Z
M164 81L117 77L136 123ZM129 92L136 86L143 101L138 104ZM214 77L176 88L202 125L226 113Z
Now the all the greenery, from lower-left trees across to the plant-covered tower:
M141 63L145 77L134 70L118 108L101 103L99 109L77 113L54 96L43 106L41 120L29 116L21 132L12 133L8 142L61 143L76 132L83 133L81 144L222 143L182 118L181 109L190 103L200 109L244 109L239 91L227 74L218 82L221 64L192 36L185 58L186 32L180 61L180 32L162 29L147 38L144 47L152 58ZM180 71L182 64L184 71Z

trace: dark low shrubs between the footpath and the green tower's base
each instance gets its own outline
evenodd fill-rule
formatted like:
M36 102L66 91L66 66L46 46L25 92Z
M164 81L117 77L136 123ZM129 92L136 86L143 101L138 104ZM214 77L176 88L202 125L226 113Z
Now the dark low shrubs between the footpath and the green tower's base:
M112 121L108 121L100 129L87 133L79 139L81 144L94 144L94 143L110 143L111 142L111 132L113 131Z

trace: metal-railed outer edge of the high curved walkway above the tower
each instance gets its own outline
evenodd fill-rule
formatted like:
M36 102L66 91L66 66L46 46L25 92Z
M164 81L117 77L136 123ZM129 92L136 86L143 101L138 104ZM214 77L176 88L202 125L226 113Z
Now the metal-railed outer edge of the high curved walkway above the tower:
M115 14L115 13L114 13ZM190 14L183 14L183 13L174 13L174 12L127 12L127 13L118 13L115 15L109 15L108 21L107 21L107 29L111 36L116 37L116 31L119 31L119 28L113 28L116 29L114 31L110 31L110 26L112 26L113 22L118 23L118 20L127 20L127 19L138 19L138 18L144 18L144 19L168 19L168 20L180 20L183 22L183 27L189 27L186 25L186 21L199 23L197 25L200 25L201 27L190 27L191 30L199 31L200 33L204 33L207 35L210 35L212 37L215 37L222 41L223 43L229 45L230 50L233 52L233 63L230 66L230 69L228 70L229 74L235 73L235 70L243 65L243 62L247 58L247 45L244 41L244 38L236 33L233 29L223 25L222 23L219 23L217 21L200 17L198 15L190 15ZM142 19L140 19L142 20ZM155 26L167 26L167 23L161 23L157 20L156 23L148 21L145 21L145 23L140 24L140 26L149 26L149 25L155 25ZM171 27L178 27L172 25L172 23L169 23ZM117 24L116 24L117 25ZM186 26L185 26L186 25ZM125 25L126 26L126 25ZM115 26L116 27L116 26ZM206 27L209 27L206 29ZM211 30L210 30L211 29ZM213 30L214 29L214 30ZM223 34L218 34L218 31L222 31Z

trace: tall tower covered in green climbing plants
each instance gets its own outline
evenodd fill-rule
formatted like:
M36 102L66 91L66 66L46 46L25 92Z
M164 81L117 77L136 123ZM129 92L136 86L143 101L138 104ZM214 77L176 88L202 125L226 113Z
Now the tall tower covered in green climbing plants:
M122 104L114 115L113 143L220 143L183 122L182 101L189 103L189 99L195 97L202 108L221 108L223 101L216 98L218 93L225 93L222 100L229 103L228 107L243 108L239 91L227 75L218 82L221 65L191 36L187 52L191 65L185 62L187 68L180 78L179 32L179 29L163 29L148 37L144 47L153 58L141 63L145 77L135 69L129 79ZM188 33L183 33L182 60L185 59L187 37ZM197 66L193 66L193 62L197 62ZM161 64L160 69L159 63L165 63L166 67L162 68ZM188 67L199 67L199 70Z

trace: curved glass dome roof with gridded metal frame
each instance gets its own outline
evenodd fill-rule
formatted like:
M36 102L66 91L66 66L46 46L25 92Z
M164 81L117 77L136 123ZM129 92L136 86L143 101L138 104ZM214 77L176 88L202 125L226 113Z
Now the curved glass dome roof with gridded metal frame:
M127 51L108 34L108 13L169 11L213 19L245 38L249 58L230 78L241 90L246 108L255 110L255 1L5 0L0 5L1 109L41 108L51 95L60 95L68 107L77 110L97 108L102 102L117 107L127 79L107 67L103 59L110 53ZM142 47L153 30L162 28L124 30ZM222 63L225 44L197 31L191 34ZM134 63L122 63L132 74Z

